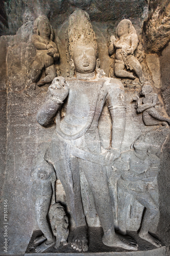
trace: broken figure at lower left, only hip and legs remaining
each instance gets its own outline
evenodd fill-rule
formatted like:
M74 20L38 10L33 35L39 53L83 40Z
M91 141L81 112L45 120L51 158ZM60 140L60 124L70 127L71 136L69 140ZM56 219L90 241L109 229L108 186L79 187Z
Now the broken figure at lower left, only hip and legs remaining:
M55 203L56 174L52 165L45 160L36 164L31 170L31 199L35 205L35 218L43 236L37 237L34 244L36 252L43 252L55 244L55 237L51 229L48 211Z

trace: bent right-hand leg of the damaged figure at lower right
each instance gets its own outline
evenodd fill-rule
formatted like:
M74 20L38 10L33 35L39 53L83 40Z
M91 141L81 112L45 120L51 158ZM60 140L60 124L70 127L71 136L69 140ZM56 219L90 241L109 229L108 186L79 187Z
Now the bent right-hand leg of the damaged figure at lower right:
M146 241L152 243L154 246L160 247L161 242L148 233L148 230L150 229L150 227L152 227L152 222L154 218L158 214L158 206L156 205L156 202L153 200L151 195L145 195L143 197L138 196L138 202L146 207L143 215L142 225L138 235L142 239L145 239Z

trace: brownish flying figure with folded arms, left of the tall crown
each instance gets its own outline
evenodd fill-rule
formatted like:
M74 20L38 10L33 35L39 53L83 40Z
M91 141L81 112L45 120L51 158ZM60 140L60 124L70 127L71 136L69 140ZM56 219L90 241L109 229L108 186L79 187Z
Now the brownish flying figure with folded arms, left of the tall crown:
M42 86L52 82L56 77L54 61L59 59L59 52L57 45L53 42L53 28L45 16L39 16L34 21L33 34L31 40L36 48L36 56L32 64L31 80L38 86ZM41 77L43 71L45 77Z

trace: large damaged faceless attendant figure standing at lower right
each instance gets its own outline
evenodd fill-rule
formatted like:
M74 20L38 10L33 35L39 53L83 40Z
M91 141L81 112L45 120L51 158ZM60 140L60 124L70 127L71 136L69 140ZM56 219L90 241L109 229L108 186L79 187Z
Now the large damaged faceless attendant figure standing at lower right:
M135 202L138 201L146 208L138 235L156 247L160 247L161 242L148 231L159 208L149 191L154 189L152 182L159 172L161 147L168 134L169 128L164 127L141 135L132 144L133 150L123 152L121 158L114 162L114 166L121 173L121 178L117 182L120 232L126 234L129 204L131 204L131 214L133 214Z

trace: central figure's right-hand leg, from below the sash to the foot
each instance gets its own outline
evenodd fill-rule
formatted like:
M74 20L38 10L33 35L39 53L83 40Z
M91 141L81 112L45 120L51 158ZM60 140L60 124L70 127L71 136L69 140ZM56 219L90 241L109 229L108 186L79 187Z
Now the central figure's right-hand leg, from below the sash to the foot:
M132 238L126 238L114 231L112 204L107 184L106 168L98 164L80 160L87 181L95 199L97 213L104 231L102 241L107 246L122 247L127 250L137 250L137 244Z

